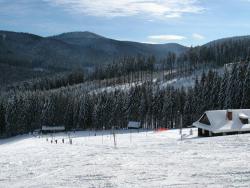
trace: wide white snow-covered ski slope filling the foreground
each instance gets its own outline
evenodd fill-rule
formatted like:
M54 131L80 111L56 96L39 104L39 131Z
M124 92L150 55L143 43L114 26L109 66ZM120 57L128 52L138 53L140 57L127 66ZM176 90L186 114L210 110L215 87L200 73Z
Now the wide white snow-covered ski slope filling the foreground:
M189 129L184 130L189 134ZM0 140L0 187L249 187L249 134L214 138L179 131L72 134L73 144ZM101 134L101 133L98 133ZM49 140L50 141L50 140Z

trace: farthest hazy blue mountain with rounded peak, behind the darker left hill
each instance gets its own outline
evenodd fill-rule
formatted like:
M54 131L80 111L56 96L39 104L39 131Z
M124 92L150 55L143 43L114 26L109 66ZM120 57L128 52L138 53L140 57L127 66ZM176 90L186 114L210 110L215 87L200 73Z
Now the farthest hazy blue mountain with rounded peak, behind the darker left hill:
M104 52L113 58L136 55L154 55L163 58L168 52L180 54L187 50L187 47L176 43L146 44L131 41L118 41L88 31L63 33L51 38L82 48L90 48L93 51Z

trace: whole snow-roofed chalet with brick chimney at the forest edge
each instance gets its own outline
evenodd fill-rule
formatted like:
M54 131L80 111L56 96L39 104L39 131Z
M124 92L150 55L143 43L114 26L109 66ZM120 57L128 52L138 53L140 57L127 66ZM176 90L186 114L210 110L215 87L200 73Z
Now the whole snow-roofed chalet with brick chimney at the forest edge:
M250 109L206 111L193 126L204 137L250 133Z

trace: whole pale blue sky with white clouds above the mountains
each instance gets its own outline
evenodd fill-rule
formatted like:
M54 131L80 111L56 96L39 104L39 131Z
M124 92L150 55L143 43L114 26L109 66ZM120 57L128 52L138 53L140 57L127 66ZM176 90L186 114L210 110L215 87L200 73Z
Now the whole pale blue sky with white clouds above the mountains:
M250 34L250 0L0 0L0 29L199 45Z

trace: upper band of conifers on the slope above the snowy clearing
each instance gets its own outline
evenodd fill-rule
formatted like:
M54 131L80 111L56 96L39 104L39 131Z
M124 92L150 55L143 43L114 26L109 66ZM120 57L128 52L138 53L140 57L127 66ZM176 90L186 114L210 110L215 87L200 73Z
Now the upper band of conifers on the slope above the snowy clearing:
M152 80L162 74L166 81L177 76L188 76L194 71L218 68L225 64L249 61L250 38L239 37L214 41L203 46L191 47L180 55L167 53L163 59L154 56L120 57L94 70L61 73L47 78L32 79L11 85L9 88L49 90L96 80L99 85L123 84ZM1 62L0 62L1 63ZM104 81L100 83L100 81Z

